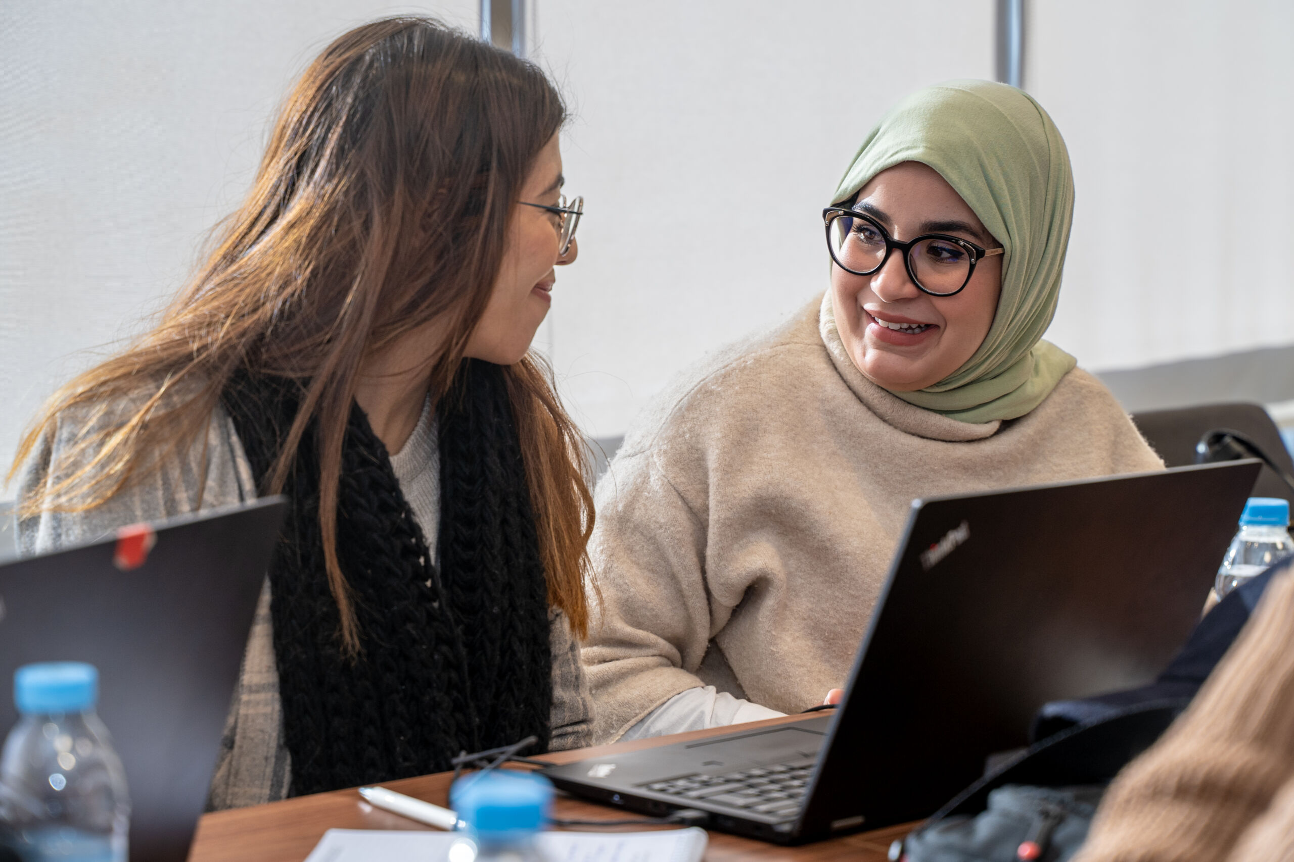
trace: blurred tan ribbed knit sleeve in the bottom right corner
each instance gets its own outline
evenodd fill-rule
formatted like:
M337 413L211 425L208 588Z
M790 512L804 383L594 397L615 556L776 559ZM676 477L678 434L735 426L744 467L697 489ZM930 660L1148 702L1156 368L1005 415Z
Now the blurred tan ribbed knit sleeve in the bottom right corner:
M1074 862L1294 859L1294 576L1105 795Z

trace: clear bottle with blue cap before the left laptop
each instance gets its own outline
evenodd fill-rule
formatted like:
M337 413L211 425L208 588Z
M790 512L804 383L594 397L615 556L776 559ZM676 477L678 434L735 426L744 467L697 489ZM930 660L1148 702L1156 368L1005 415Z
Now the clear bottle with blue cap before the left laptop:
M13 680L18 724L0 756L0 844L23 862L126 862L126 772L94 715L93 664L27 664Z

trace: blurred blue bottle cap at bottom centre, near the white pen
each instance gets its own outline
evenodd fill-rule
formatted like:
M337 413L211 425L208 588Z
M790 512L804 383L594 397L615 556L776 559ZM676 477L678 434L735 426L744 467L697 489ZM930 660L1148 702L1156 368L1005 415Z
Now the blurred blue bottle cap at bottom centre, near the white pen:
M493 769L459 778L450 800L458 818L479 836L516 837L543 827L553 808L553 782L533 773Z

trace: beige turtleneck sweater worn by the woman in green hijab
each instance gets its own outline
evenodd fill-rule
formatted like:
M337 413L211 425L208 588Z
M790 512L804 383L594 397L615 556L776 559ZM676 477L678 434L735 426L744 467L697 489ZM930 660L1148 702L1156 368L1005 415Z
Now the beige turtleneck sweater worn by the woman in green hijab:
M660 397L597 492L594 735L699 685L798 712L845 682L914 498L1162 468L1075 370L967 424L859 373L827 297Z

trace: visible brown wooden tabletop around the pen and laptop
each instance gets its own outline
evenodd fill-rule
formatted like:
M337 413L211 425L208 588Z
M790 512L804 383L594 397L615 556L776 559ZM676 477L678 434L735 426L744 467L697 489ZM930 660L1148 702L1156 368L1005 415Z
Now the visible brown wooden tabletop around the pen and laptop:
M749 728L788 724L814 716L787 716L752 722ZM637 751L686 739L701 739L722 733L730 728L714 728L673 737L622 742L615 746L599 746L578 751L562 751L545 755L543 760L564 764L585 757L595 757L612 751ZM405 778L384 782L383 787L408 796L446 805L449 799L450 773ZM558 794L555 815L559 818L615 819L631 817L621 809L611 809L593 803L585 803ZM902 837L915 826L892 826L872 832L857 832L827 841L804 846L779 846L752 839L725 835L710 831L709 848L705 850L708 862L833 862L835 859L854 859L858 862L881 862L886 858L890 843ZM302 862L330 828L349 830L417 830L431 828L399 814L375 809L352 790L338 790L329 794L314 794L286 799L268 805L237 808L226 812L203 814L198 831L189 850L190 862ZM626 827L634 831L650 827Z

